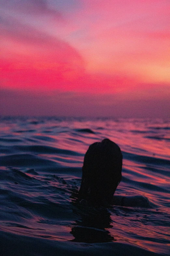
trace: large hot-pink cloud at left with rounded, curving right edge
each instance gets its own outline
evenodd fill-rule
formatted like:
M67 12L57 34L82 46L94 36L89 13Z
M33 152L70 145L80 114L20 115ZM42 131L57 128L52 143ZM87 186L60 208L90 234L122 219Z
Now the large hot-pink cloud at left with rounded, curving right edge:
M1 39L4 87L62 87L84 73L84 60L69 43L14 18L2 19Z

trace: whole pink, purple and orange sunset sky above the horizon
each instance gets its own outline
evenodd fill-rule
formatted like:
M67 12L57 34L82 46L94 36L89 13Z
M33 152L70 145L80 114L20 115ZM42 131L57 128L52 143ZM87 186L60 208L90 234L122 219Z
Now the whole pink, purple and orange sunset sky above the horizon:
M169 13L169 0L1 0L1 114L168 117Z

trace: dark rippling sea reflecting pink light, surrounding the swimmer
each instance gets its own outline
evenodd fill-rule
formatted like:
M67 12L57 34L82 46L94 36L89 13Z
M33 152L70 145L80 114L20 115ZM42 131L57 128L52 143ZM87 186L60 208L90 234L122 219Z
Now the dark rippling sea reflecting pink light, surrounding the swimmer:
M76 204L89 145L123 153L115 195L150 208ZM170 120L3 118L0 123L2 255L169 255Z

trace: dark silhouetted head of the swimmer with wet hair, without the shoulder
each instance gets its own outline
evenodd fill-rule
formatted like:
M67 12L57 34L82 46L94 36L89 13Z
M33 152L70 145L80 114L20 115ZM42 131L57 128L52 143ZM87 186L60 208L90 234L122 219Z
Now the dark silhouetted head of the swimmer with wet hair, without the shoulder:
M82 167L79 200L95 205L107 205L121 180L120 147L109 139L89 146Z

